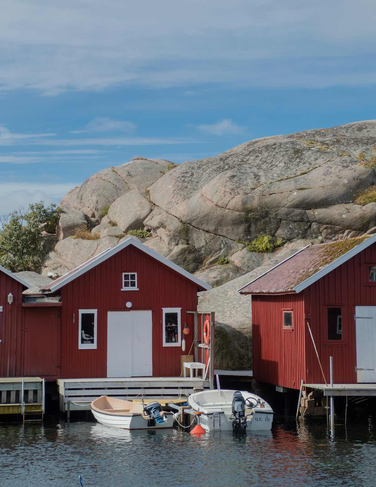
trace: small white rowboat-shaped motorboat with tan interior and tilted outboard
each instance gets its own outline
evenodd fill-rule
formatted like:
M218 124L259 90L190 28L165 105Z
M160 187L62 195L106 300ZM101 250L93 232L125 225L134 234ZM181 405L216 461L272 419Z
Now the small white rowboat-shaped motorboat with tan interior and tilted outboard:
M153 430L172 428L174 415L161 411L161 405L154 401L143 406L115 397L101 396L90 404L95 419L104 425L125 430Z

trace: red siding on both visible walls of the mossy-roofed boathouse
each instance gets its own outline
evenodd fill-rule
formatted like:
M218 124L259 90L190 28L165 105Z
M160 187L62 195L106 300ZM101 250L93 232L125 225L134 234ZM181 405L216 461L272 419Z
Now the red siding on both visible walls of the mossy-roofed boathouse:
M306 322L316 343L322 368L329 381L329 357L333 357L336 383L356 383L355 307L376 306L376 285L368 283L368 265L376 264L376 244L359 252L300 294L253 295L253 376L256 380L299 389L324 382ZM291 307L294 329L282 329L281 312ZM327 308L340 307L342 340L328 340Z

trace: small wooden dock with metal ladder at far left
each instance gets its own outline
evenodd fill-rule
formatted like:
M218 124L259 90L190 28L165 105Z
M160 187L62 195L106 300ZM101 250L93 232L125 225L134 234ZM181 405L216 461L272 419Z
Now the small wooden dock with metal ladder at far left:
M40 377L0 377L0 414L44 412L44 382Z

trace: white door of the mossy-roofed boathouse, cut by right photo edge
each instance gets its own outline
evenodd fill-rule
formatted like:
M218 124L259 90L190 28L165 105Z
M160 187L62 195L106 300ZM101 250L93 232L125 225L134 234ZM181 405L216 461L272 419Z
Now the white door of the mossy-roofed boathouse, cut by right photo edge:
M356 306L357 382L376 382L376 306Z

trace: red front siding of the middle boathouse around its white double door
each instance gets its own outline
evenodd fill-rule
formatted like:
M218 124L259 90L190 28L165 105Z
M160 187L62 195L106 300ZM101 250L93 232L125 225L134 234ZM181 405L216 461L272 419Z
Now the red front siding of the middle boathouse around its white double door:
M137 272L139 291L121 291L122 273ZM66 284L61 289L61 377L107 376L107 311L152 310L153 376L179 376L181 347L162 346L162 308L181 308L181 327L186 352L194 335L193 315L197 310L197 284L153 259L133 245ZM78 350L78 310L97 309L97 349Z

